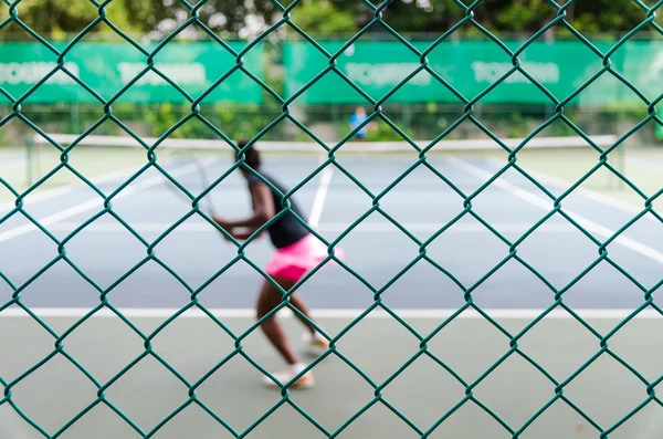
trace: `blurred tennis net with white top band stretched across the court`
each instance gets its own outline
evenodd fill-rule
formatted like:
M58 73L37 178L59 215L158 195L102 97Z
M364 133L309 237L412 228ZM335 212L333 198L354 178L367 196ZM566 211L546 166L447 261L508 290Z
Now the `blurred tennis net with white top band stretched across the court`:
M233 149L223 139L182 139L167 138L159 143L158 138L143 138L143 144L129 136L97 136L88 135L78 138L76 135L51 134L50 138L60 147L74 147L67 154L74 167L84 175L92 178L99 174L122 171L126 168L137 168L147 163L147 148L158 145L155 153L158 163L165 166L185 166L191 164L200 167L200 173L194 174L198 179L196 185L207 185L217 176L217 170L223 168L218 166L213 175L204 175L207 164L231 165ZM567 137L534 137L527 142L522 138L502 139L498 145L490 138L484 139L460 139L440 140L430 149L427 157L445 156L462 157L474 160L490 161L494 166L506 165L509 159L509 149L517 148L523 143L524 147L518 149L518 164L529 167L530 170L539 170L556 177L571 180L576 175L582 175L591 169L600 160L600 148L608 148L617 142L617 136L601 135L592 136L594 145L590 146L583 138ZM63 159L63 154L51 142L42 136L31 139L28 150L28 184L39 181L49 175ZM420 148L427 148L431 140L415 142ZM318 144L315 142L257 142L256 147L265 153L271 159L286 158L288 160L314 159L319 161L326 158L330 150L339 160L358 159L370 161L372 158L394 157L399 160L414 163L419 159L420 150L407 142L359 142L350 140L343 144L328 142ZM505 148L506 147L506 148ZM610 163L618 169L623 170L625 159L623 148L619 147L609 155ZM99 170L101 169L101 170ZM86 171L95 174L87 174ZM45 186L59 185L76 180L75 176L69 176L69 180L62 180L63 173L43 181ZM64 173L66 176L67 173ZM203 176L203 177L201 177ZM59 180L60 178L60 180ZM192 178L192 177L189 177ZM192 182L192 181L191 181ZM186 185L186 181L183 181ZM193 182L192 182L193 184ZM599 188L611 188L619 185L619 179L609 170L601 170L589 180L589 185Z

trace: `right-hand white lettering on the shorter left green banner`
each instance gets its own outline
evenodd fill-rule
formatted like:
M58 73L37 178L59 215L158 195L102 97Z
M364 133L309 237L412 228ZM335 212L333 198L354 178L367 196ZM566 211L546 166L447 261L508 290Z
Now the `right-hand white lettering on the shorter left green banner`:
M170 77L180 85L207 85L207 70L200 63L179 63L179 64L161 64L155 65L159 72ZM122 76L124 84L134 80L146 64L143 63L119 63L117 70ZM136 84L138 85L166 85L166 81L152 71L147 72Z

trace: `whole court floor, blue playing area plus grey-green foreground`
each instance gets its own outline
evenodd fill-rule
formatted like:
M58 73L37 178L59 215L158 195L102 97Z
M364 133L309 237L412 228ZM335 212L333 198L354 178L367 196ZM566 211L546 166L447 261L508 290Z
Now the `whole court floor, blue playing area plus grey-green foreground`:
M464 194L474 192L497 169L490 160L433 157L430 159ZM373 195L385 190L412 164L406 157L340 157L339 163ZM294 186L318 165L315 157L270 158L266 168L284 184ZM168 169L190 190L201 190L196 168L172 161ZM223 173L230 161L209 164L210 176ZM320 175L295 194L295 200L311 212L323 207L317 230L334 240L372 206L372 199L343 173L335 170L323 181ZM112 192L120 179L99 186ZM329 182L328 185L326 182ZM113 209L147 241L157 239L185 216L190 206L177 189L150 171L113 202ZM546 186L554 194L567 187ZM94 201L96 199L96 201ZM249 212L243 181L232 175L214 189L210 199L215 210L229 218ZM209 201L209 200L207 200ZM425 241L463 211L463 198L424 167L412 171L379 200L380 208ZM86 187L66 194L25 199L25 210L59 239L95 216L102 201ZM564 209L600 241L609 239L634 213L587 194L572 194ZM532 182L509 170L472 200L473 210L509 241L516 241L550 209L552 202ZM396 226L372 213L339 243L346 263L379 290L420 254L420 247ZM129 271L146 254L145 245L110 216L98 218L67 241L66 255L94 282L105 289ZM453 273L466 288L499 265L509 245L481 222L464 217L431 242L425 251ZM249 258L264 265L272 254L267 240L251 243ZM630 273L641 286L653 290L663 279L663 227L653 217L643 217L608 245L612 261ZM214 229L198 217L188 219L155 248L192 289L198 289L235 254ZM599 248L559 216L546 221L517 245L517 254L557 289L564 289L599 258ZM57 244L30 228L20 216L0 224L0 270L14 285L22 285L57 255ZM219 314L231 331L242 333L252 324L252 306L262 278L240 262L199 294L206 307ZM373 292L341 266L329 265L316 273L301 293L330 335L338 334L361 310L373 303ZM12 289L0 283L0 303ZM146 334L190 302L190 293L157 263L140 266L108 294L113 305L127 310L130 320ZM494 313L515 335L540 310L555 302L555 293L535 274L509 260L472 292L476 305ZM57 334L63 334L86 311L98 304L99 294L69 264L60 261L21 292L30 306ZM401 311L422 336L465 304L463 291L436 268L422 260L392 283L381 295L383 303ZM587 316L600 335L644 302L644 292L606 261L575 282L564 293L565 303ZM537 311L538 310L538 311ZM288 334L298 347L302 327L283 316ZM663 374L662 320L648 311L623 326L608 344L615 355L638 369L649 383ZM0 313L0 377L12 381L53 352L55 339L17 307ZM154 351L187 380L194 383L233 348L232 339L211 320L197 315L178 318L152 341ZM246 354L273 370L283 367L259 330L242 343ZM107 383L145 352L144 341L119 318L97 316L77 327L64 341L65 351L98 381ZM519 341L518 346L558 381L601 349L600 338L564 311L544 318ZM400 323L385 315L369 315L337 345L347 358L378 385L382 384L420 349L420 341ZM465 315L445 326L428 348L473 383L509 352L509 338L477 315ZM309 358L311 359L311 358ZM338 356L330 355L314 368L316 387L293 391L291 398L335 431L371 403L375 389ZM473 395L514 430L519 429L556 396L556 385L518 354L512 354L485 379ZM51 360L11 388L12 400L49 433L54 433L93 403L96 387L64 356ZM564 395L601 428L610 429L648 400L648 385L608 354L601 355L564 387ZM238 432L280 401L280 393L261 386L260 372L238 356L224 364L197 390L200 400ZM381 390L380 396L399 409L420 430L428 430L465 397L465 388L443 367L419 357ZM187 387L151 356L140 360L105 391L136 425L148 432L189 398ZM648 404L610 435L610 438L655 438L663 427L663 410ZM159 429L156 438L223 438L231 435L197 405L191 405ZM0 438L42 437L9 406L0 406ZM104 405L96 406L66 429L63 438L138 438L128 424ZM250 438L325 437L288 404L283 405L249 435ZM420 435L391 412L382 401L354 420L339 437L409 438ZM430 437L507 438L512 435L473 401L465 403ZM556 400L520 435L522 438L594 438L599 431L567 403Z

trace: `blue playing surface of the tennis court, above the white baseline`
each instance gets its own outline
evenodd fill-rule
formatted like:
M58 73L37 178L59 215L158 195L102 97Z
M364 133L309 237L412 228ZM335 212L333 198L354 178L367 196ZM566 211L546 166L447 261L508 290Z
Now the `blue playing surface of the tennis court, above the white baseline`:
M411 165L406 159L389 157L340 157L338 160L376 196ZM472 195L498 169L496 164L482 160L440 157L429 161L465 195ZM179 180L198 194L202 188L198 169L180 165L173 163L169 169L176 170ZM290 187L302 181L317 165L316 158L267 158L266 164L270 173ZM215 160L209 166L208 174L218 176L229 166L228 160ZM325 185L320 186L323 174L298 190L294 199L308 215L317 201L315 216L319 220L314 221L316 229L332 241L369 211L372 200L338 170L328 173L332 174L330 181L327 175ZM109 194L119 181L102 184L99 188ZM547 188L554 194L567 189ZM148 242L190 210L186 197L178 195L173 186L166 187L156 170L147 173L128 189L133 192L126 196L120 192L122 198L113 201L113 209ZM210 198L215 210L227 218L249 213L249 195L239 173L219 185ZM207 206L209 200L204 201L203 206ZM463 201L438 176L421 166L381 197L379 207L424 242L463 211ZM27 211L33 218L48 219L48 229L59 239L67 237L103 209L101 198L87 187L34 203L28 197L25 202ZM552 201L515 170L507 171L472 199L472 210L512 242L552 208ZM564 200L562 209L601 242L634 217L633 211L576 194ZM2 224L0 243L0 266L15 285L28 281L57 257L57 244L36 228L30 228L20 215ZM379 212L366 218L339 245L346 251L346 263L376 290L390 282L420 254L420 244ZM109 215L76 233L65 248L71 261L104 289L147 255L146 247ZM193 289L236 255L236 248L197 216L170 232L154 250ZM512 250L484 224L465 215L433 240L425 248L425 254L471 288ZM599 245L560 215L548 219L515 250L559 290L600 257ZM640 219L607 250L612 261L646 289L661 281L663 227L653 216ZM246 254L259 265L264 265L272 252L269 240L261 239L248 247ZM261 280L254 269L240 262L207 286L200 300L209 307L252 307ZM4 283L0 289L0 301L9 300L12 291ZM316 273L302 288L302 293L317 309L366 309L373 301L368 288L334 264ZM95 290L64 261L45 271L21 295L31 307L91 307L98 303ZM472 295L482 307L540 309L554 302L555 293L522 263L511 259L476 286ZM118 307L144 309L179 307L189 301L180 282L154 262L117 285L109 297ZM565 292L564 297L573 309L634 309L642 304L643 292L602 261ZM465 303L462 290L425 260L420 260L399 278L385 291L382 299L389 306L398 309L457 309Z

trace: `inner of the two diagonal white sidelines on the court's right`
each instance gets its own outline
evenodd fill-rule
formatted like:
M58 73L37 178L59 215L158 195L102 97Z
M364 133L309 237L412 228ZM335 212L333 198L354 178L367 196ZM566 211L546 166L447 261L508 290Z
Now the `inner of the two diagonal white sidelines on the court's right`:
M491 173L488 173L482 168L478 168L476 166L470 165L469 163L463 161L459 158L450 158L449 163L451 165L455 166L456 168L464 170L465 173L467 173L478 179L487 180L494 176L494 174L491 174ZM492 186L493 185L509 192L511 195L513 195L515 197L520 198L522 200L529 202L530 205L533 205L535 207L538 207L538 208L545 210L546 212L549 212L554 208L552 200L539 197L530 191L522 189L518 186L512 185L508 181L497 179L492 182ZM611 238L615 233L615 230L611 230L611 229L603 227L597 222L593 222L593 221L582 217L581 215L575 213L567 209L565 209L565 212L569 217L573 218L573 220L576 222L578 222L581 227L583 227L586 230L588 230L592 233L599 234L604 238ZM619 237L617 237L614 239L613 242L619 243L629 250L632 250L632 251L640 253L655 262L663 264L663 253L661 253L660 251L656 251L656 250L652 249L651 247L648 247L639 241L635 241L631 238L627 238L623 234L620 234Z

